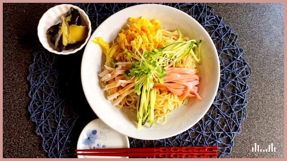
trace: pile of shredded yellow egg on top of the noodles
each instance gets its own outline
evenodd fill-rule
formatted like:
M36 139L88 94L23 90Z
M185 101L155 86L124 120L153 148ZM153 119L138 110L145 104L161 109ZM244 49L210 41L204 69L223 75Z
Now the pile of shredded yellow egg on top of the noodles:
M144 17L130 17L128 20L133 24L128 25L126 30L122 30L118 34L117 42L112 44L112 47L100 37L92 40L95 44L100 45L106 55L106 66L111 66L111 59L132 62L132 60L126 59L127 55L123 53L124 49L135 53L136 46L139 52L143 53L144 50L152 51L164 47L164 40L157 36L158 31L161 30L160 21L157 19L149 21Z

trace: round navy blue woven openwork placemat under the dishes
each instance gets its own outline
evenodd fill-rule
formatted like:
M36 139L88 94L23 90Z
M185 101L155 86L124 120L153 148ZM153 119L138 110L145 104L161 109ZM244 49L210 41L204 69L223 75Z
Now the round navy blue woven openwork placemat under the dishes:
M247 117L247 79L251 74L236 44L237 36L222 17L204 3L163 3L188 13L210 34L219 55L221 79L213 105L189 130L162 140L129 138L131 147L168 147L216 145L218 156L230 154L234 138ZM106 18L135 4L74 4L89 16L94 31ZM56 55L39 47L30 65L29 112L36 123L36 133L43 139L43 149L51 158L74 157L77 139L83 127L97 118L88 105L80 80L83 49L76 54Z

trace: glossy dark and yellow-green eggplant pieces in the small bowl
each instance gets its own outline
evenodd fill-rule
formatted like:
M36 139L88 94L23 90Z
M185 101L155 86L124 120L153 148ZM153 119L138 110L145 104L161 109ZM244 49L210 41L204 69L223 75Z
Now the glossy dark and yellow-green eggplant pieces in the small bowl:
M81 15L77 9L69 12L51 26L46 33L51 35L50 41L54 49L62 52L65 49L78 47L87 38L88 27L81 25Z

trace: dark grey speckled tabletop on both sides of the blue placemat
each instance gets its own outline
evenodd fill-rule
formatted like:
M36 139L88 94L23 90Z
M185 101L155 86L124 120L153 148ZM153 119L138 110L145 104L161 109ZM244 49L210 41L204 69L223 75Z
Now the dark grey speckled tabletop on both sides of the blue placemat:
M3 157L45 158L29 120L28 66L38 44L37 24L55 4L4 4ZM284 4L209 4L239 36L252 69L248 117L229 158L284 157ZM30 38L28 41L27 38ZM254 143L276 152L255 153ZM27 149L27 150L23 150ZM29 150L28 150L29 149Z

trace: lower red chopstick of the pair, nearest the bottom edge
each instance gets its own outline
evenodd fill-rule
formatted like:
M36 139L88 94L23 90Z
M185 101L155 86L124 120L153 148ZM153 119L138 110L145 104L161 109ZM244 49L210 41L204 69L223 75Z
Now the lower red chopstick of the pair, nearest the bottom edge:
M120 153L76 153L75 155L85 156L113 156L113 157L155 157L155 158L217 158L217 152L167 152L167 153L155 153L155 152L120 152Z

